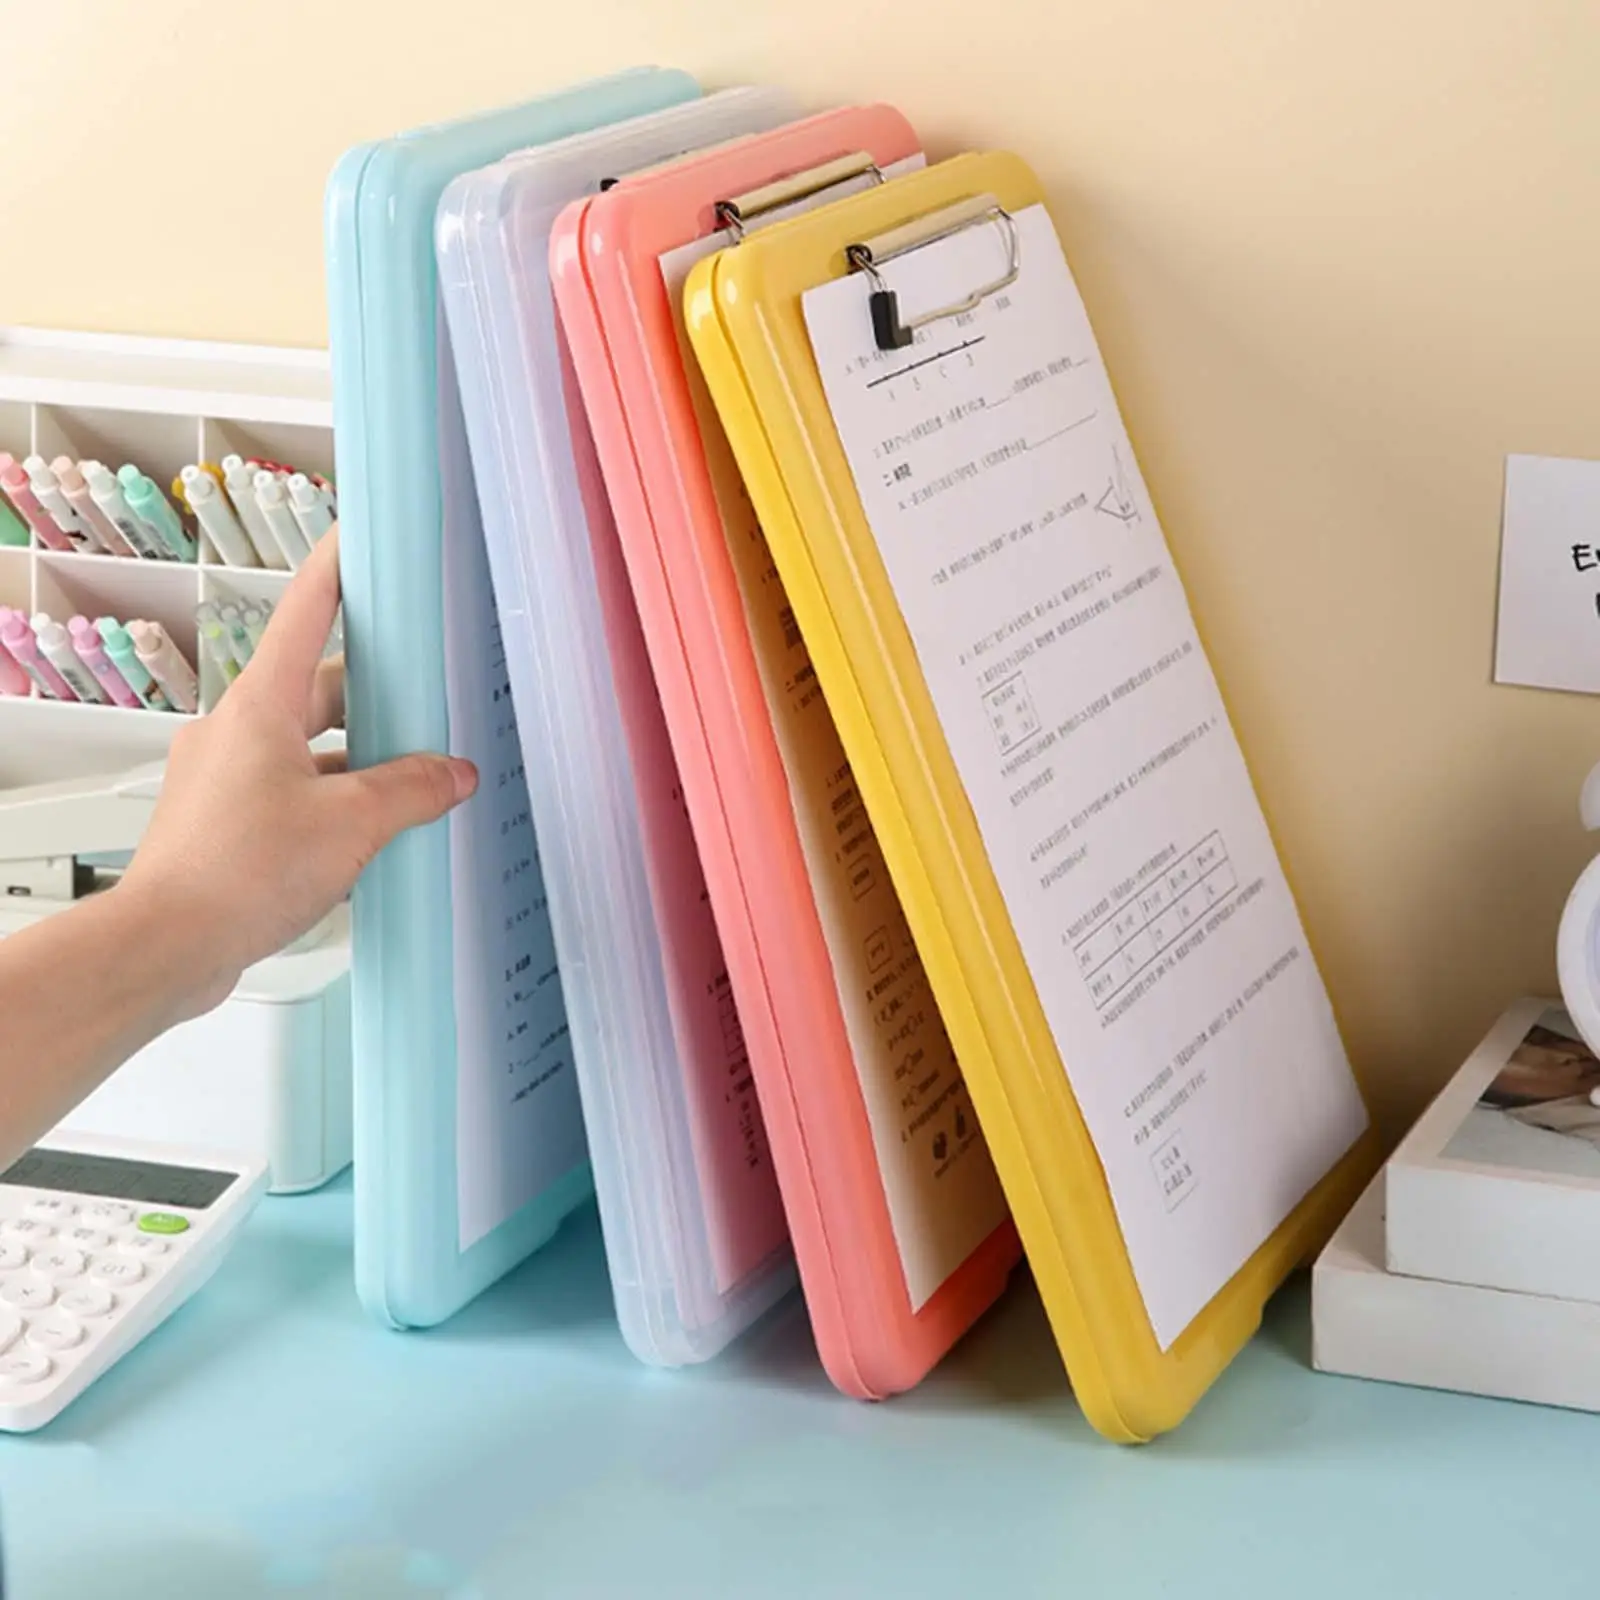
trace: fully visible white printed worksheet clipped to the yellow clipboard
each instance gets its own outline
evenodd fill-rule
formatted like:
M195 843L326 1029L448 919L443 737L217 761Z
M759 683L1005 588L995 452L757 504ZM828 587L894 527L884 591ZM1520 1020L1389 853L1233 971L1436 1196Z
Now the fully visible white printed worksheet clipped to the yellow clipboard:
M829 405L1162 1346L1366 1126L1043 206L1019 272L878 352L805 296ZM883 269L904 318L1005 277L1005 218Z

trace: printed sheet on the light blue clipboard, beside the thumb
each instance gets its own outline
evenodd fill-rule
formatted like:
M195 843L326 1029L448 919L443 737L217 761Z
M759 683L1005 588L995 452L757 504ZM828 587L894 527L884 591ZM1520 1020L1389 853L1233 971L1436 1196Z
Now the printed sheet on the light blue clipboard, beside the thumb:
M587 1160L522 738L488 550L440 336L445 698L450 749L478 768L451 813L456 1230L466 1251Z

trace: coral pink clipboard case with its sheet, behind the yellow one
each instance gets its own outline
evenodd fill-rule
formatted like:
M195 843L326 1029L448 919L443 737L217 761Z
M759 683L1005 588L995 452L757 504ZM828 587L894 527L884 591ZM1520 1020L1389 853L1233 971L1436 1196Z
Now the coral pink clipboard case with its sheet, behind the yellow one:
M834 110L622 178L550 237L818 1349L861 1398L917 1384L1000 1294L1019 1246L688 352L680 286L741 227L918 162L899 112ZM907 1138L934 1114L954 1117L936 1162Z

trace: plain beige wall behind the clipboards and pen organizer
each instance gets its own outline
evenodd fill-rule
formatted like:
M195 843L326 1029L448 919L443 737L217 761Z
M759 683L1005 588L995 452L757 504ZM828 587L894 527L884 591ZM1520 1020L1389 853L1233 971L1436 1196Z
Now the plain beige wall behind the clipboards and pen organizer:
M874 18L880 18L875 21ZM1584 0L0 0L0 322L320 342L349 142L635 61L1048 181L1358 1064L1549 986L1600 707L1488 685L1501 458L1600 456Z

